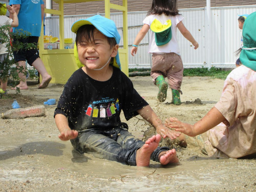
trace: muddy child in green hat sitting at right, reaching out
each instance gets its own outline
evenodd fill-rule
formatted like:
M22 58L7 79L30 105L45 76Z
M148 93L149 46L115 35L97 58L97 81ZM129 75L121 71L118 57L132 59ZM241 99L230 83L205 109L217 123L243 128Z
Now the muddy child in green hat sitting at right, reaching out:
M212 157L239 158L256 154L256 12L243 25L242 65L230 72L219 102L194 125L176 118L166 126L188 136L199 152ZM189 141L190 140L190 141Z

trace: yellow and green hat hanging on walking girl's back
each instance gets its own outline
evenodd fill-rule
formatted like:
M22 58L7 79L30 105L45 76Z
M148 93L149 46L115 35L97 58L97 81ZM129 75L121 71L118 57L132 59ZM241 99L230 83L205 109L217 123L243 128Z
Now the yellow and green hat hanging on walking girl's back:
M169 19L164 24L155 19L150 29L155 32L155 41L157 46L165 45L172 39L172 21Z

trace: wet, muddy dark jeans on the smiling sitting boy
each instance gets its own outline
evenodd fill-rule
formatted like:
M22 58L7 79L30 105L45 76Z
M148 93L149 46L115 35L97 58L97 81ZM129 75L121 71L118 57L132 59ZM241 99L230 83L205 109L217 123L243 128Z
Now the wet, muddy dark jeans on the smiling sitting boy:
M83 130L77 138L70 141L74 149L81 154L90 153L94 157L133 166L136 166L136 151L145 143L135 138L127 129L120 127L107 131ZM159 154L168 150L168 147L157 147L151 154L151 159L159 162Z

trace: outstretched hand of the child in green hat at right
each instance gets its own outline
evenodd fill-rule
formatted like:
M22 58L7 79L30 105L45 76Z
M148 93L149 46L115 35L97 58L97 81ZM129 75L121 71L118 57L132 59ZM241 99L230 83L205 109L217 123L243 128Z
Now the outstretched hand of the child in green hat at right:
M188 136L194 137L197 134L195 133L195 130L193 128L193 125L187 124L187 123L182 123L181 121L178 121L176 118L167 118L165 120L165 126L170 128L170 129L175 129L175 131L182 132Z

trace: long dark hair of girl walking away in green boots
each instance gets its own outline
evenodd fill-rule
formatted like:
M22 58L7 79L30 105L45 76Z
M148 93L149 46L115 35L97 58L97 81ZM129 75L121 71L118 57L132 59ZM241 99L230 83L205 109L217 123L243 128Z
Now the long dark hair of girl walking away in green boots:
M148 15L161 15L167 16L180 15L178 6L178 0L153 0L150 10L147 12Z

